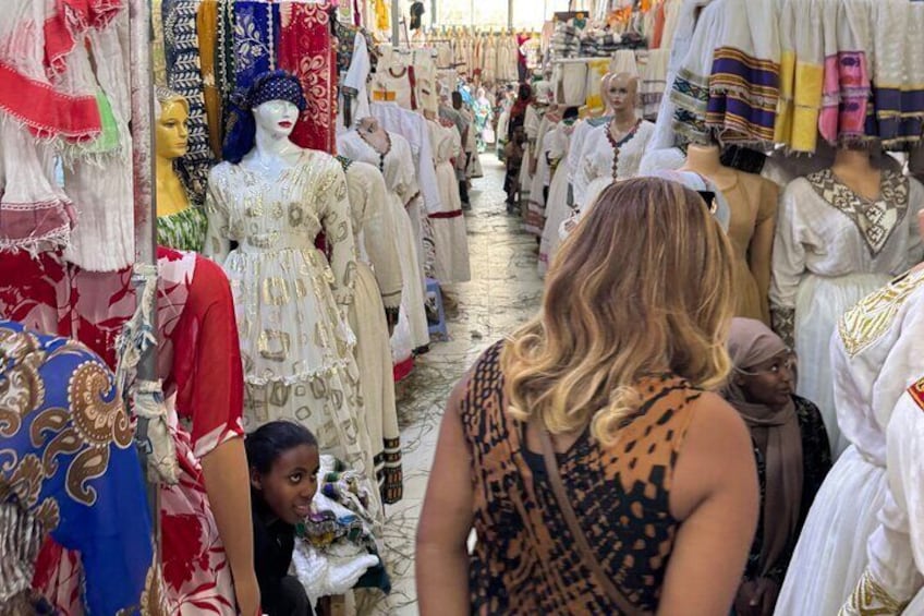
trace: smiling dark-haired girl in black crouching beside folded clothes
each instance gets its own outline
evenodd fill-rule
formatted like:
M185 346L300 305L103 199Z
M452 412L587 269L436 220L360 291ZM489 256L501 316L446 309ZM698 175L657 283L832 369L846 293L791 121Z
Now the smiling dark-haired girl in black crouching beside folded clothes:
M267 616L313 614L304 587L289 575L295 527L307 518L317 492L317 440L300 424L267 423L247 437L254 568Z

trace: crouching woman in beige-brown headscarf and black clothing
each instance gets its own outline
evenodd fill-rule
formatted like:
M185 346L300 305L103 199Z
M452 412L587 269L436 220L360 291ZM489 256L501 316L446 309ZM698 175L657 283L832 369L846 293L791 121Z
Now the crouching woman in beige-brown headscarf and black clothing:
M795 391L795 358L752 318L732 321L734 369L724 392L751 431L762 514L734 602L737 616L769 616L805 516L831 468L818 408Z

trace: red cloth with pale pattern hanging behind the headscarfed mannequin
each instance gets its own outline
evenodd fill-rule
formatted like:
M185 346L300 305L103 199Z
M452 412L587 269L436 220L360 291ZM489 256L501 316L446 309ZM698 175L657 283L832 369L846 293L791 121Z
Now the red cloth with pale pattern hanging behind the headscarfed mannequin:
M337 149L337 58L330 33L333 2L288 2L280 7L279 68L302 83L307 106L291 140L301 147L333 154Z

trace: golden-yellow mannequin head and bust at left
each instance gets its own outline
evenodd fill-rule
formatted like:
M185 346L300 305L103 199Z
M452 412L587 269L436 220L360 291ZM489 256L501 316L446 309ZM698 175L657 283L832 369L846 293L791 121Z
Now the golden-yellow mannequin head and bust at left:
M174 162L186 154L190 105L179 94L155 89L155 172L157 179L157 243L199 252L205 242L205 212L194 207Z

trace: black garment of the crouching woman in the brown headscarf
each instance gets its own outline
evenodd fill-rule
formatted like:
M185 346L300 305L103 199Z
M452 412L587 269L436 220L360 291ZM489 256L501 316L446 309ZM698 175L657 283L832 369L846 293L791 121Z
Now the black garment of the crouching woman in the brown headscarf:
M782 581L786 578L786 570L789 567L792 551L795 548L795 542L799 539L799 533L802 531L802 526L805 523L808 509L812 508L815 494L822 487L825 476L831 469L831 447L828 444L828 435L825 432L825 422L822 420L822 412L818 410L818 407L805 398L793 396L792 400L795 403L795 416L799 419L799 431L802 435L802 502L799 508L799 524L792 536L790 536L786 551L769 567L766 573L767 578L776 582L777 588L782 585ZM754 456L757 462L761 502L763 502L767 490L767 464L756 443L754 444ZM761 576L761 552L764 545L763 516L764 510L762 508L761 521L757 524L757 532L754 535L754 542L751 544L751 552L747 554L747 563L744 567L745 580L753 580Z

